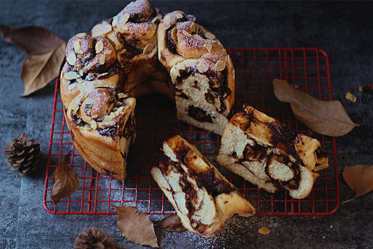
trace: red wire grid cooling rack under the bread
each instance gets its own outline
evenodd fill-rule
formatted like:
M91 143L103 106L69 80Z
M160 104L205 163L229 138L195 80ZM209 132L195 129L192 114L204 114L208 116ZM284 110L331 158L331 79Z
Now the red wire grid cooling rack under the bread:
M290 105L279 102L272 89L272 80L288 80L301 91L322 100L332 100L328 55L319 48L230 48L236 73L236 100L233 113L243 103L283 121L289 128L318 139L329 153L330 167L319 171L311 194L303 200L286 192L269 194L241 177L218 167L256 208L258 215L329 215L339 206L336 139L317 134L298 122ZM148 214L174 214L171 203L151 178L150 169L158 164L162 142L180 134L194 144L211 163L217 165L220 137L187 125L176 119L175 104L162 95L137 99L137 138L128 155L127 179L124 183L98 174L87 165L74 148L63 118L56 81L48 163L45 175L43 205L52 214L114 215L115 206L137 206ZM77 172L77 192L63 198L55 206L50 198L52 175L56 165L73 150L71 167Z

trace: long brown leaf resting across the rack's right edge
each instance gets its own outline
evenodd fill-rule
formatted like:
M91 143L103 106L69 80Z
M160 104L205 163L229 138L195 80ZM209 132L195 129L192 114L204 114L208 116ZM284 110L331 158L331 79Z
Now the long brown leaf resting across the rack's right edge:
M339 101L318 100L280 79L273 80L273 90L278 100L290 103L298 120L317 133L338 137L359 126L350 119Z

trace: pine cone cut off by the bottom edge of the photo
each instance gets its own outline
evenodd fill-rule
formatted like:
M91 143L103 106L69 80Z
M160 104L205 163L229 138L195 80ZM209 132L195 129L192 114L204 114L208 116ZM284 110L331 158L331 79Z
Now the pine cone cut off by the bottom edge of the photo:
M87 232L82 232L76 238L75 249L87 248L101 248L101 249L115 249L114 238L105 234L102 228L95 230L95 227L89 227Z

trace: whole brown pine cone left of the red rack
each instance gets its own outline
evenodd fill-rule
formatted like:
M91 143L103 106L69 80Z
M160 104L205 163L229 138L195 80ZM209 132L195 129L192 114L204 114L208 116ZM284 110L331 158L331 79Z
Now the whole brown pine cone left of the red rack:
M2 151L8 158L6 161L11 170L18 170L19 175L33 171L41 158L40 144L34 139L26 141L27 134L23 133L12 142L7 143Z

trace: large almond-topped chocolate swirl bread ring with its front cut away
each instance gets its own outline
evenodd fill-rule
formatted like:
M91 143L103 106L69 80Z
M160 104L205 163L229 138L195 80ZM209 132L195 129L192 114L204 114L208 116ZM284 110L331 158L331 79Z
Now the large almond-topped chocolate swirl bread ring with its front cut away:
M125 173L119 168L125 165L128 147L124 147L133 139L124 137L123 130L127 120L134 118L133 97L165 94L175 99L179 119L222 134L234 99L234 69L220 42L194 21L181 11L164 15L159 9L153 11L147 0L137 0L95 25L91 35L78 33L68 41L60 87L65 118L75 147L100 173L113 172L113 178L124 179ZM123 117L110 121L116 127L114 133L99 132L107 126L107 119L88 118L94 115L90 109L76 109L91 92L98 94L97 89L99 96L103 92L112 96L111 104L119 101L114 101L118 92L133 96L124 105L131 106L131 111L119 112ZM94 99L95 105L107 108L110 114L110 106L101 103L106 98ZM76 113L86 116L80 118ZM88 143L93 135L95 142ZM105 146L108 154L104 153ZM110 150L115 156L109 156ZM114 164L118 162L117 169Z

